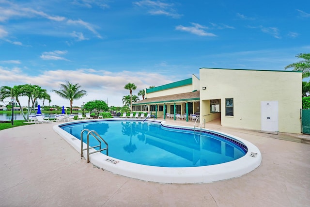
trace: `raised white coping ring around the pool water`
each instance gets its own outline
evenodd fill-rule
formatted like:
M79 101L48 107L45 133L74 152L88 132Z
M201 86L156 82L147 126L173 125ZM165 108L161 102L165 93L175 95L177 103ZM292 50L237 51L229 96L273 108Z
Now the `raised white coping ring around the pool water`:
M133 119L118 119L118 121L133 121ZM141 121L144 119L135 119L135 121ZM72 145L79 153L81 143L80 140L72 136L59 126L66 124L73 124L79 122L94 122L102 120L78 120L70 123L60 123L53 126L53 129L57 134L59 134L66 142ZM105 119L104 121L115 121L115 119ZM175 127L175 128L186 128L193 130L194 127L184 127L177 125L168 125L165 121L153 121L147 120L148 122L161 123L163 126ZM141 165L132 162L127 162L120 159L114 159L102 153L94 153L90 155L90 162L93 165L112 172L118 175L124 175L131 178L136 178L144 181L159 182L159 183L211 183L220 180L231 179L235 177L240 177L242 175L248 174L257 167L260 166L262 162L262 154L260 150L252 143L244 140L242 138L233 136L231 134L219 132L216 130L202 129L203 131L212 131L220 133L225 136L229 136L235 140L238 140L241 143L244 143L248 152L245 156L230 161L226 163L202 166L202 167L156 167ZM86 143L83 143L83 148L86 148ZM90 152L95 151L90 149ZM87 156L86 153L83 153L84 156Z

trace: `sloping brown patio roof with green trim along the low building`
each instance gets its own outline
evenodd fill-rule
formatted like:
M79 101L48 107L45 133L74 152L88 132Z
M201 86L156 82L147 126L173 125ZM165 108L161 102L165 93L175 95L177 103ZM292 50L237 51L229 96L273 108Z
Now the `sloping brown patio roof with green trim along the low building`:
M164 103L177 103L177 102L192 102L200 100L200 92L193 91L183 94L174 94L169 96L158 96L153 98L146 98L132 103L133 106L137 105L150 105L150 104L164 104Z

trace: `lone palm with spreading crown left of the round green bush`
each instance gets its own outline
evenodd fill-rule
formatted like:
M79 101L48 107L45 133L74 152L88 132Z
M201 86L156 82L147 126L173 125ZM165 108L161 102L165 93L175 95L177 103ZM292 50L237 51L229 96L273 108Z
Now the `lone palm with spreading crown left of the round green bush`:
M72 114L72 103L73 100L78 100L83 96L87 96L86 91L80 90L81 85L72 84L68 80L66 80L66 84L60 84L60 90L52 90L52 92L55 92L58 96L61 96L64 99L70 100L70 113Z

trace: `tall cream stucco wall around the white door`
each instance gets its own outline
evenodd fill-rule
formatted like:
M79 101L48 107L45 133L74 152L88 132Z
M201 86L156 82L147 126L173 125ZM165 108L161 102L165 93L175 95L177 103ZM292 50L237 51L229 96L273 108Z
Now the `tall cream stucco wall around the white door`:
M201 68L202 87L201 103L221 100L223 126L261 130L261 101L279 101L279 131L301 131L302 73ZM225 116L225 98L233 98L233 116ZM201 111L207 111L202 105Z

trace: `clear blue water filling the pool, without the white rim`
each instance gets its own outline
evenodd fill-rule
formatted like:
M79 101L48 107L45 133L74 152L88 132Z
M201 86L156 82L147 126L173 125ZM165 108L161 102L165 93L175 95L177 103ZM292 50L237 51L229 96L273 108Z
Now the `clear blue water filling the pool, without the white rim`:
M160 167L196 167L229 162L243 157L245 147L215 133L163 127L142 121L95 121L61 126L80 139L83 129L95 130L109 144L109 156L128 162ZM87 141L87 131L83 142ZM90 137L90 145L98 145ZM102 143L103 148L105 144ZM106 151L102 152L106 154Z

